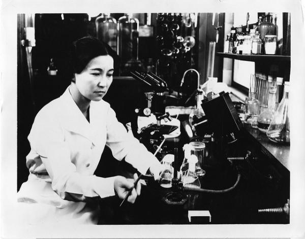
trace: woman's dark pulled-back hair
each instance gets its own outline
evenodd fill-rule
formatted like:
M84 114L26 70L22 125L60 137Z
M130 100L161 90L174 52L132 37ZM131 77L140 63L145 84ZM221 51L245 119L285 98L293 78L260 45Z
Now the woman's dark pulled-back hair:
M73 73L81 73L90 60L97 56L109 55L113 58L114 65L118 56L112 48L93 37L84 37L73 42L71 49L71 66ZM114 67L116 68L116 67Z

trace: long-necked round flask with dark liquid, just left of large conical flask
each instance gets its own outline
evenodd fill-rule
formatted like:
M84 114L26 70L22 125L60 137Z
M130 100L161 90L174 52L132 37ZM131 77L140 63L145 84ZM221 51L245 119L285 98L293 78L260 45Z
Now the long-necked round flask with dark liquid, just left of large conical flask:
M261 132L267 132L267 129L271 123L273 114L276 108L276 93L277 82L272 80L269 82L269 94L268 94L268 108L265 109L257 119L257 127Z

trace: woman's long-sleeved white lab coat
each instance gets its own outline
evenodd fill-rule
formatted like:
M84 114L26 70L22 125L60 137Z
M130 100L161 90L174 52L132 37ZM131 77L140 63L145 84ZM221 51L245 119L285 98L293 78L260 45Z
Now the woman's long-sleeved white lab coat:
M33 223L98 222L98 200L94 198L114 195L115 177L94 175L105 145L116 159L125 158L142 174L160 164L127 133L104 100L90 103L89 118L90 123L68 88L37 114L28 135L30 174L17 193L18 201L23 202L18 203L21 211L30 213Z

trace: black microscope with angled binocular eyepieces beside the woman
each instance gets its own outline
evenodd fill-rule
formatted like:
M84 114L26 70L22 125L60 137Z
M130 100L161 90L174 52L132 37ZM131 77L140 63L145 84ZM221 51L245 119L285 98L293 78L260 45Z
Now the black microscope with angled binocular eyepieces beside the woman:
M165 137L180 134L180 121L165 112L167 83L153 73L131 72L131 75L148 85L153 92L146 92L147 106L136 108L131 128L134 136L148 149L155 152Z

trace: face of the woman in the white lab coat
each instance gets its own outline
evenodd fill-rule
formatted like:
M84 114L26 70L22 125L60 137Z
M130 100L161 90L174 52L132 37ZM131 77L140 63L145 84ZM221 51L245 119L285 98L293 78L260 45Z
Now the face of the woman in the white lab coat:
M84 97L99 101L107 93L112 75L113 58L109 55L97 56L89 61L80 74L75 74L75 84Z

